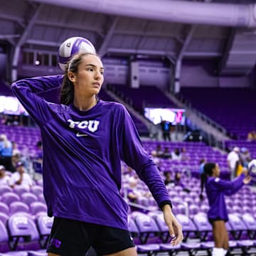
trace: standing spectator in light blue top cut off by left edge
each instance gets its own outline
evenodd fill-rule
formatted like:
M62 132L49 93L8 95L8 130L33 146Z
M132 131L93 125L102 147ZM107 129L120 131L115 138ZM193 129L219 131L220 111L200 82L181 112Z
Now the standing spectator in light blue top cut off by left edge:
M12 144L6 134L0 135L0 156L1 165L4 165L6 170L14 172L15 168L12 165Z

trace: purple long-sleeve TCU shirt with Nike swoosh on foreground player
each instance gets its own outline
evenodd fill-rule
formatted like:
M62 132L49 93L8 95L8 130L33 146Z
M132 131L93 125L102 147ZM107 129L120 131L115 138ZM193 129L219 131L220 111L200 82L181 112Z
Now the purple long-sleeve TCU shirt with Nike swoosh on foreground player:
M127 230L128 206L119 190L121 164L137 171L159 206L171 203L127 110L100 100L87 111L47 102L38 94L60 87L63 75L28 78L14 95L41 128L43 193L48 215Z

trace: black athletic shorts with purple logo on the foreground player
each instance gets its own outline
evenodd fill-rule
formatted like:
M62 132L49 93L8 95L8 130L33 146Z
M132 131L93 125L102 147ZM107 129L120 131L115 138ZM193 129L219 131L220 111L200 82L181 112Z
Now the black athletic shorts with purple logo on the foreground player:
M97 252L97 256L102 256L135 245L128 230L54 218L47 252L61 256L85 256L91 246Z

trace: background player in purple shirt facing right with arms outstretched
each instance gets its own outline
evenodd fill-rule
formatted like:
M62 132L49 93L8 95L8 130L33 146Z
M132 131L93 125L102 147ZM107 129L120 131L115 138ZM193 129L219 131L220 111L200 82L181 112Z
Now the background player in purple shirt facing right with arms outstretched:
M247 170L233 181L225 181L219 178L220 168L216 163L206 163L204 166L203 182L201 183L201 198L203 198L203 187L206 186L206 194L210 209L208 219L213 225L213 256L224 256L228 252L228 231L225 222L228 221L228 212L225 206L225 196L236 193L244 184L250 183Z

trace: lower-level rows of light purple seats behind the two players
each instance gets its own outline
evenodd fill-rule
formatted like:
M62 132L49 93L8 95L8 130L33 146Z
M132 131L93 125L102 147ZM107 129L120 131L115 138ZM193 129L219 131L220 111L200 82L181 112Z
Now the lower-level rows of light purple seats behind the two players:
M18 144L19 149L36 154L36 142L40 140L39 129L28 127L1 126L5 133ZM186 158L182 160L155 159L161 176L170 172L171 176L181 173L183 186L166 186L174 206L174 213L183 225L184 240L181 245L169 244L168 228L163 215L152 196L140 196L138 208L129 210L129 230L132 233L137 251L142 255L210 255L213 247L212 228L207 219L208 201L199 199L201 191L199 161L207 159L220 164L221 176L229 178L227 154L220 153L202 142L155 142L143 141L149 154L161 145L186 149ZM247 146L248 147L248 146ZM249 148L249 147L248 147ZM127 198L129 181L134 171L122 163L122 195ZM188 191L185 191L187 188ZM149 193L143 181L138 181L136 190ZM244 186L238 193L226 198L229 213L228 233L230 250L238 255L254 255L256 248L256 192ZM45 247L50 234L53 218L46 215L46 202L43 198L41 181L34 181L31 188L0 187L0 256L46 256ZM18 238L18 239L17 239ZM11 251L10 250L14 250ZM15 251L16 250L16 251ZM181 252L181 254L179 254ZM184 254L185 253L185 254Z

